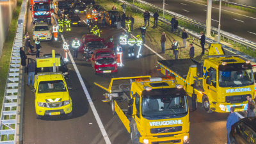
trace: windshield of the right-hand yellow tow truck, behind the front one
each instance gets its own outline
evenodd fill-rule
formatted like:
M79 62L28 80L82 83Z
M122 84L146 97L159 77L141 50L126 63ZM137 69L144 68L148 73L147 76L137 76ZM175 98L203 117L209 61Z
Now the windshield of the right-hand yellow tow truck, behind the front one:
M253 84L252 69L219 72L220 86L246 86Z

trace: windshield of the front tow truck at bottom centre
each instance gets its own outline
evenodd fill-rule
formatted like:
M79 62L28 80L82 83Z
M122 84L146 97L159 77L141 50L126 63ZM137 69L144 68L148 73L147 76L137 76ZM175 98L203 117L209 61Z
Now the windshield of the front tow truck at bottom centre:
M177 116L188 112L186 96L143 97L141 108L143 116Z

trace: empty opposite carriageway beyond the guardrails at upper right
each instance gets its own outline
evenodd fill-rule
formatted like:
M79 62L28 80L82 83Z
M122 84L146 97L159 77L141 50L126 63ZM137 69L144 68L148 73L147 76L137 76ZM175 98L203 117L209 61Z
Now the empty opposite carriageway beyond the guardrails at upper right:
M145 0L163 8L163 1ZM202 0L165 0L166 10L179 13L193 20L206 24L207 2ZM220 4L212 3L211 26L218 28ZM228 6L221 6L221 29L241 36L252 42L256 42L256 15L255 13L245 12Z

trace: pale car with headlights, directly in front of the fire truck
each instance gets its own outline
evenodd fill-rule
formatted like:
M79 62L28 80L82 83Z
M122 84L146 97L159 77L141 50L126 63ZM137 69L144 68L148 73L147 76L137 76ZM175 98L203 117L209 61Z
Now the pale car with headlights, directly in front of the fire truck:
M47 22L36 22L33 28L33 40L51 40L52 33L51 28L48 26Z

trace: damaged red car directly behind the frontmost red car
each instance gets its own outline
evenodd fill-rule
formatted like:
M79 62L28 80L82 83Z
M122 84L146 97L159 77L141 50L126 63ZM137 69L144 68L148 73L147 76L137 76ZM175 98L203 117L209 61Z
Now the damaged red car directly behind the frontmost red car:
M84 52L84 45L88 44L88 42L95 44L95 45L89 44L89 45L92 45L93 49L103 48L102 45L107 46L109 49L114 48L113 35L109 36L108 38L106 38L106 40L104 40L104 38L99 38L98 35L87 34L87 35L83 35L80 41L81 41L81 46L78 48L78 51L81 53ZM102 43L99 44L95 41L100 41Z

